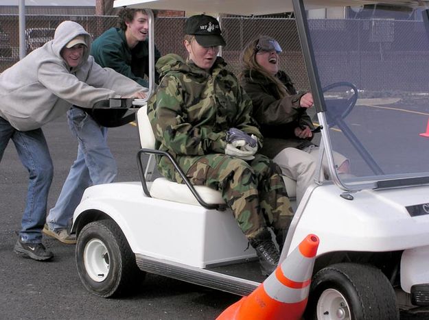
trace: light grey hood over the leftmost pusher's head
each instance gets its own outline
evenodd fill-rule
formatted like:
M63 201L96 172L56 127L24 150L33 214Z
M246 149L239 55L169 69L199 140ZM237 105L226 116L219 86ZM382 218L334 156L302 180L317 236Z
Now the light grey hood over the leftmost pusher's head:
M86 45L82 62L88 60L89 51L91 49L91 36L85 31L82 25L74 21L62 21L55 29L54 40L52 42L54 53L61 58L62 48L77 36L82 36Z

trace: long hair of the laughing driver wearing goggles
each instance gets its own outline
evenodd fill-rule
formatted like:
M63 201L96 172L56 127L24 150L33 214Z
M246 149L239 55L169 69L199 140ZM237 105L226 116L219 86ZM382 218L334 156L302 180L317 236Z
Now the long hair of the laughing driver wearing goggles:
M258 38L251 40L251 42L248 42L246 47L244 47L244 50L242 52L242 73L240 76L244 78L244 74L247 72L248 76L252 79L252 72L259 72L275 84L277 93L279 94L280 98L286 97L289 95L288 90L286 90L286 86L279 80L279 78L268 73L262 66L260 66L256 62L256 46L259 42L259 39L264 37L266 36L259 36Z

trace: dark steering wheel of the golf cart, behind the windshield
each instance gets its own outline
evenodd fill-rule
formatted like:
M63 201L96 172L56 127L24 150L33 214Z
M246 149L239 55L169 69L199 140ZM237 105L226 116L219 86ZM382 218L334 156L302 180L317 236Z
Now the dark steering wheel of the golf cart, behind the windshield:
M350 82L334 82L329 84L322 89L323 93L326 93L333 88L346 87L353 90L353 95L349 98L335 98L335 99L325 99L326 104L326 120L329 126L338 124L337 119L345 119L347 114L351 112L353 107L358 101L358 88ZM341 92L345 92L342 90Z

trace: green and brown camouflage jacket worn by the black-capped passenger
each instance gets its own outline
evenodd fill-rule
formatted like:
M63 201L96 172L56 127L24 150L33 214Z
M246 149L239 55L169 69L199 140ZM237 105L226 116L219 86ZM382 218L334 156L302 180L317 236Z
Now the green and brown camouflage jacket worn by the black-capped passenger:
M231 127L255 134L262 145L262 135L251 117L251 99L225 66L218 57L207 73L175 54L156 63L160 83L148 101L156 148L168 151L185 173L205 154L224 153ZM165 157L159 159L158 167L167 179L182 182Z

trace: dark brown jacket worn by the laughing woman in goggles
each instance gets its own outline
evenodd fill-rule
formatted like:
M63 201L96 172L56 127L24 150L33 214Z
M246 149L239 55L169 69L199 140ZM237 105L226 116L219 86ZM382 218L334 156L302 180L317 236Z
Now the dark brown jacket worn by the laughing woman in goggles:
M299 106L303 96L295 90L292 80L283 71L276 77L286 86L287 97L279 97L274 82L271 82L262 73L244 71L240 83L253 103L253 116L261 126L265 143L261 153L268 158L274 158L288 147L303 149L313 145L308 139L298 138L294 134L296 127L307 125L314 129L314 125L305 108Z

